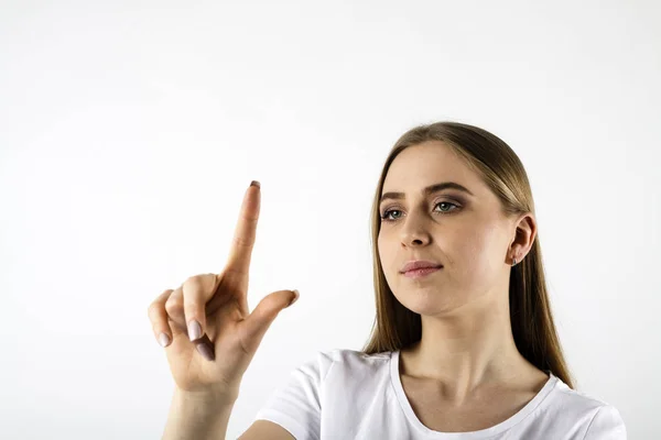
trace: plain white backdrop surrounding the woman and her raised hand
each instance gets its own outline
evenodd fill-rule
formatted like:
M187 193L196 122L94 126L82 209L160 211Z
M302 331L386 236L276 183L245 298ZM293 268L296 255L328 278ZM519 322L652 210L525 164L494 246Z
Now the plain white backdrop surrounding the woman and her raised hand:
M410 128L519 154L577 389L661 432L655 1L0 2L0 437L161 438L147 316L225 265L262 184L249 305L297 288L227 438L375 316L369 215Z

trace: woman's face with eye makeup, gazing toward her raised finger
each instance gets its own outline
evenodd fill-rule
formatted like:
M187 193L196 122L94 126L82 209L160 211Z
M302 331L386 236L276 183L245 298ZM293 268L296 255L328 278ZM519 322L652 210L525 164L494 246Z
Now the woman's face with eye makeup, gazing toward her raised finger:
M423 193L442 183L459 184L473 195L454 188ZM404 150L388 170L381 196L387 193L403 196L379 205L379 257L404 307L438 315L508 292L513 219L501 213L489 187L448 146L430 141ZM414 260L443 268L421 278L400 273Z

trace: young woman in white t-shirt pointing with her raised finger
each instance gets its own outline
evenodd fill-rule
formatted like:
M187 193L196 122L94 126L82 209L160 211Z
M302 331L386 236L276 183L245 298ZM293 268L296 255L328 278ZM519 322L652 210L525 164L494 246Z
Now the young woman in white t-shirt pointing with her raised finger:
M166 439L225 437L263 334L297 298L275 292L248 311L259 197L249 188L225 270L150 307L177 385ZM573 389L530 184L503 141L453 122L410 130L372 219L371 339L297 367L240 439L626 439L613 405Z

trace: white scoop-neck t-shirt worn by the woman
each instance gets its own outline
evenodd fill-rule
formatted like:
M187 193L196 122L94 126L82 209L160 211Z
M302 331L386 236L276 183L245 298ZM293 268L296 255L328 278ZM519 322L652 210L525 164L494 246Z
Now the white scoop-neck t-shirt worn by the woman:
M399 375L399 350L371 355L335 349L296 367L254 420L296 440L626 440L619 411L550 373L537 396L509 419L472 432L438 432L415 416Z

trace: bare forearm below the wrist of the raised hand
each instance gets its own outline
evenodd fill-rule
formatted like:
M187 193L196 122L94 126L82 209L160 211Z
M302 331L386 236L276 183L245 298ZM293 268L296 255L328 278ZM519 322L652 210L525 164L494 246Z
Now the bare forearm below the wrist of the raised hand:
M162 440L225 440L232 397L182 393L175 387Z

